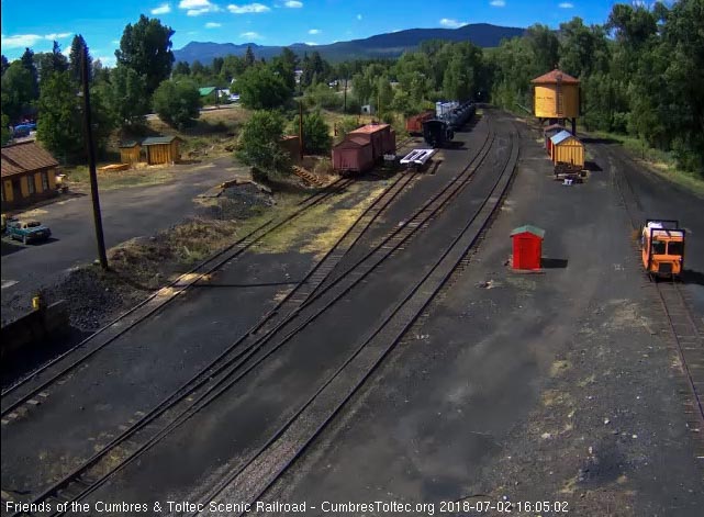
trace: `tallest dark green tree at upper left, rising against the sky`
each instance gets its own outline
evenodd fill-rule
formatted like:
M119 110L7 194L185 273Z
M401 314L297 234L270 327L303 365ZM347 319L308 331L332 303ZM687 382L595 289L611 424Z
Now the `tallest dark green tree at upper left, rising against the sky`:
M115 50L118 64L130 67L144 76L149 95L171 74L174 65L172 35L171 27L161 25L158 19L148 19L144 14L134 25L127 24L122 33L120 49Z

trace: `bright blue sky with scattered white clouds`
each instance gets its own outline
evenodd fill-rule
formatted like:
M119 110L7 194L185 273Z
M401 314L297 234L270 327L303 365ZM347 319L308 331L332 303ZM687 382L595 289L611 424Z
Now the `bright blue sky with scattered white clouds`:
M238 3L232 3L236 1ZM187 43L322 45L416 27L456 29L467 23L556 29L573 16L603 23L614 0L2 0L2 54L19 58L26 46L48 52L56 40L67 53L82 34L90 53L114 66L127 23L139 14L176 31Z

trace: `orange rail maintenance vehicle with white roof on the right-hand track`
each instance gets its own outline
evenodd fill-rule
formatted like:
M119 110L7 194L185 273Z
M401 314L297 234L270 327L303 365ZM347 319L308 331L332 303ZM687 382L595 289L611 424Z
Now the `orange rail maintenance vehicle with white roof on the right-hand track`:
M640 233L640 251L649 276L675 278L682 274L684 234L677 221L646 220Z

